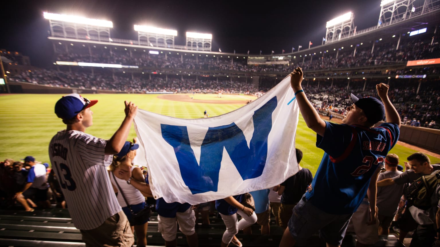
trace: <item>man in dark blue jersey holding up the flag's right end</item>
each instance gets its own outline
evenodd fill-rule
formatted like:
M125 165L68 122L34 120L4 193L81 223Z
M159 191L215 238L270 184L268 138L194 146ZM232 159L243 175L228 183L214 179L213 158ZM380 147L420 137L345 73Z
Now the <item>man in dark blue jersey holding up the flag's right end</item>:
M301 87L300 67L290 73L290 85L307 126L316 132L316 146L324 156L312 185L293 208L281 247L294 246L313 233L327 246L340 246L348 222L363 197L370 198L370 221L376 212L376 181L370 183L377 167L399 138L400 117L388 98L389 86L376 85L382 102L374 97L357 98L347 107L343 124L322 120ZM373 128L386 116L387 123Z

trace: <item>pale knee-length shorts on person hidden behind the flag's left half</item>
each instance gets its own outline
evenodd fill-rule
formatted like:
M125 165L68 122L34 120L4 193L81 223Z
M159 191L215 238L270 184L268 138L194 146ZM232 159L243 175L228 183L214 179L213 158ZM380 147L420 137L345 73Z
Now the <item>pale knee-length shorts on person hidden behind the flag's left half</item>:
M158 215L158 230L161 232L165 241L171 242L176 239L177 224L179 222L180 231L186 236L191 236L195 233L195 214L191 207L187 211L176 213L176 218L167 218Z

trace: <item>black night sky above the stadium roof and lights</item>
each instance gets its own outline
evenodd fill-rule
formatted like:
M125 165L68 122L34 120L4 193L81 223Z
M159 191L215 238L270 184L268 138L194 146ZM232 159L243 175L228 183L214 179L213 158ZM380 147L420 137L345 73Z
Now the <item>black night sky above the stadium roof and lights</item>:
M49 22L43 11L81 15L113 22L111 36L137 40L133 25L177 30L175 44L185 44L185 32L213 34L212 51L281 54L298 45L320 45L326 22L354 12L357 30L378 22L381 0L305 1L172 1L172 0L9 0L2 9L0 48L28 55L32 65L52 61L47 39Z

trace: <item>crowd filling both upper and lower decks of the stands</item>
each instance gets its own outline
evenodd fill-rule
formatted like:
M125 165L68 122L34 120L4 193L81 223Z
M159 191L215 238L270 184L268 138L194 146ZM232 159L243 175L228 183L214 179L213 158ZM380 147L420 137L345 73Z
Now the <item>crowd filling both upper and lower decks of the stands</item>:
M92 72L91 69L70 68L66 71L64 67L64 70L33 69L32 72L11 74L9 79L51 87L133 93L210 92L250 93L260 96L279 82L279 80L274 82L271 77L265 78L265 73L285 74L301 66L304 77L310 82L307 83L307 89L310 101L315 107L343 115L350 103L347 99L349 93L358 96L374 94L375 84L379 81L371 79L364 89L363 80L353 80L348 86L347 80L337 78L385 74L392 78L387 82L392 84L390 98L404 120L403 124L439 128L436 122L440 120L440 102L436 95L440 88L436 85L436 79L426 79L427 82L424 81L419 89L414 80L394 80L396 75L438 74L439 67L381 69L382 65L404 64L408 60L440 57L438 36L403 37L398 50L396 43L396 40L389 42L375 40L362 45L357 44L356 53L353 47L339 48L339 51L324 51L302 58L294 56L289 64L283 65L253 65L248 64L246 58L226 54L215 56L191 54L191 52L149 54L145 50L136 51L136 49L132 51L122 48L110 49L110 47L88 49L85 46L67 46L66 49L62 49L62 46L57 46L57 61L136 65L147 71L149 75L141 74L139 71L125 73L123 69L97 68L96 72ZM372 49L373 44L374 49ZM155 74L150 75L148 71ZM199 76L194 76L194 72ZM237 72L249 74L242 78L227 77ZM258 87L252 83L253 73L261 73ZM186 76L187 74L192 76ZM329 80L320 79L321 84L319 84L319 80L312 81L313 77L332 77L335 80L330 84ZM414 123L413 119L415 119Z

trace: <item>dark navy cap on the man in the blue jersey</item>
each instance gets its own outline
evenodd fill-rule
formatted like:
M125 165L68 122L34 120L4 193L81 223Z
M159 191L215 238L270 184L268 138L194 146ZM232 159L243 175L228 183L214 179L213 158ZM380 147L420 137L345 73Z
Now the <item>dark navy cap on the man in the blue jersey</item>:
M353 103L363 110L370 124L376 124L385 117L384 104L374 97L358 98L354 94L350 94Z

